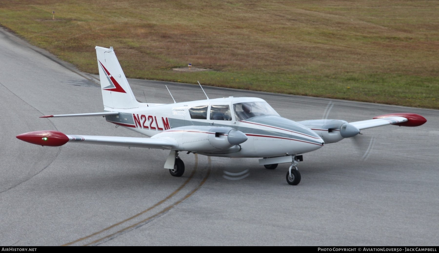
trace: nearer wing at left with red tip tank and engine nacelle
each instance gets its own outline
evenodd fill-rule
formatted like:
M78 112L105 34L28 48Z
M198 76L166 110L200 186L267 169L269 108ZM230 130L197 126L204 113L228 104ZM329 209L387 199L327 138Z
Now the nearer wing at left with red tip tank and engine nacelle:
M219 151L247 141L247 136L231 127L189 126L162 131L151 138L64 134L59 131L35 131L17 138L41 146L62 146L68 142L184 150L191 152Z

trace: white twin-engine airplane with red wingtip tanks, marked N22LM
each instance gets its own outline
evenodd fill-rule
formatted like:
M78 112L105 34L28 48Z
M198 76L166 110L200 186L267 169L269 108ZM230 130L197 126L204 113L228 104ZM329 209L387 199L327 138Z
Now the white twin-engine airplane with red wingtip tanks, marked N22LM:
M417 127L427 120L415 113L392 113L348 123L338 119L295 122L279 116L260 98L215 98L173 104L140 103L131 91L113 48L96 47L104 112L41 116L104 116L116 125L150 138L63 134L47 130L17 136L42 146L67 142L170 150L165 162L172 176L182 176L184 163L178 152L230 158L260 158L259 165L275 169L291 163L286 179L300 182L297 169L303 153L324 144L353 137L360 130L384 125ZM206 95L207 97L207 95Z

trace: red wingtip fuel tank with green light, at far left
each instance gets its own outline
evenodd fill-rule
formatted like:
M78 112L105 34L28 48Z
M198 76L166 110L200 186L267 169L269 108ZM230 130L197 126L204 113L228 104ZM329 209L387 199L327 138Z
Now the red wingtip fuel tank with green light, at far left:
M17 135L17 139L41 146L58 147L66 144L67 135L59 131L35 131Z

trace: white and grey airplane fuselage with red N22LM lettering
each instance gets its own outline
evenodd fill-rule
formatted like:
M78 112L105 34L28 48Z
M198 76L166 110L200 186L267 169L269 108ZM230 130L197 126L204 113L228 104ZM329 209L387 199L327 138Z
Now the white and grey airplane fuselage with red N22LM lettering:
M241 104L253 104L255 112L246 112ZM268 106L269 115L263 115ZM239 108L238 108L239 107ZM227 110L228 109L228 110ZM222 157L276 157L298 155L321 148L324 141L313 130L290 119L279 116L260 98L215 98L174 104L140 104L135 109L106 109L118 111L117 116L106 116L106 120L130 130L152 137L166 135L176 127L185 127L187 132L197 132L200 127L231 127L243 132L247 141L226 150L198 152L202 155ZM241 111L238 111L241 110ZM246 116L243 116L245 114ZM246 117L249 117L246 119ZM202 141L193 135L193 140ZM209 141L205 139L205 141ZM239 146L239 147L238 147Z

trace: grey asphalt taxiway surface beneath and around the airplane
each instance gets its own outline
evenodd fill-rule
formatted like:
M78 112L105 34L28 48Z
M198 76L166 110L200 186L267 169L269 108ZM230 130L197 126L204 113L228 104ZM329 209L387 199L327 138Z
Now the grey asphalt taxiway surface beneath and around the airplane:
M167 151L16 139L140 134L101 117L38 118L101 112L95 77L6 32L0 45L1 246L439 244L438 110L205 87L210 98L263 98L296 121L415 112L428 122L363 130L304 154L298 186L286 183L287 164L194 154L181 154L186 172L176 178L163 169ZM173 102L165 82L129 81L142 102ZM196 85L166 85L177 102L205 98Z

